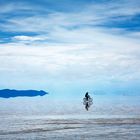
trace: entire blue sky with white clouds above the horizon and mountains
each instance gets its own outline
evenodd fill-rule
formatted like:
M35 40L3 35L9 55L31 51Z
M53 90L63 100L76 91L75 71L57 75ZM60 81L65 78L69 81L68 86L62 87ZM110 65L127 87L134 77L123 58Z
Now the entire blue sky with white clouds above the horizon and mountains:
M139 95L139 0L1 0L0 9L1 89Z

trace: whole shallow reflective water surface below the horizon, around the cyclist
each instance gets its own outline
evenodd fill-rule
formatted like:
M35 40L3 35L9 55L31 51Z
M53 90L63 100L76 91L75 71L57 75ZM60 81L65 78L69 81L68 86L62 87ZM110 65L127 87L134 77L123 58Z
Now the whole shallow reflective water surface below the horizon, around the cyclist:
M82 99L0 99L0 140L139 140L139 98L128 98L96 99L89 111Z

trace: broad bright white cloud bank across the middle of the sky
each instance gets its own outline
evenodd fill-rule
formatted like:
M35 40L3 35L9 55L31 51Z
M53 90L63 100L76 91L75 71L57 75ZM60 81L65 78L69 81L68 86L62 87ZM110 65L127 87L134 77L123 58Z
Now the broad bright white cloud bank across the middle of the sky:
M134 40L118 42L115 38L100 46L96 42L69 46L3 44L0 71L5 79L13 73L16 78L27 79L129 81L139 77L138 53Z

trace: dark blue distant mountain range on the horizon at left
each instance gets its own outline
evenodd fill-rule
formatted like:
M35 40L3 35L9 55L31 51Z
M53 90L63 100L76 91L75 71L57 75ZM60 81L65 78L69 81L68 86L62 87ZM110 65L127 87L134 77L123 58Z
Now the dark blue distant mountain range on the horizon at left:
M2 89L0 90L0 97L2 98L10 98L10 97L21 97L21 96L27 96L27 97L33 97L33 96L44 96L48 94L48 92L45 92L43 90L37 91L37 90L11 90L11 89Z

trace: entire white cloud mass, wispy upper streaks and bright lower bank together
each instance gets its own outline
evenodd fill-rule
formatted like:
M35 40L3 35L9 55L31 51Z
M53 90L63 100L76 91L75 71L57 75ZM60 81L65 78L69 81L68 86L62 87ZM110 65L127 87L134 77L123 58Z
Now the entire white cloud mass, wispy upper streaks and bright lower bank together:
M5 80L25 81L139 80L139 33L97 27L114 16L128 18L139 12L135 3L116 2L86 5L70 13L9 18L7 24L0 24L2 30L39 35L17 35L12 37L13 43L0 45L0 75Z

